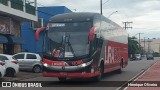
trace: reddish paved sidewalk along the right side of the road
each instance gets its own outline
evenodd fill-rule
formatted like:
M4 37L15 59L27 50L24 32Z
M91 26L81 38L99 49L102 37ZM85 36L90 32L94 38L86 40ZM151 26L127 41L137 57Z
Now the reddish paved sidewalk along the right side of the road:
M160 84L160 60L158 60L151 68L149 68L142 76L136 81L159 81L155 82L157 85ZM138 82L136 82L138 83ZM149 83L149 82L148 82ZM143 83L144 85L144 83ZM160 90L160 87L128 87L126 90Z

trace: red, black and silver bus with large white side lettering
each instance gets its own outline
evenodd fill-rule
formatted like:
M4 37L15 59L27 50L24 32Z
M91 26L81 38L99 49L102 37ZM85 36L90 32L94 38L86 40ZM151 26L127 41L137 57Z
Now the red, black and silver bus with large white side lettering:
M59 14L50 18L46 31L44 77L99 81L104 73L121 72L128 64L126 30L101 14Z

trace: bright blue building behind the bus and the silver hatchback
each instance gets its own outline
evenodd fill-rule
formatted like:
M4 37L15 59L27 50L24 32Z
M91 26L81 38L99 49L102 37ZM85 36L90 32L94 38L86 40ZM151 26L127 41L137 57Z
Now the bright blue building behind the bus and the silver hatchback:
M36 41L36 29L47 26L47 23L52 16L69 12L71 12L71 10L65 6L38 7L38 23L24 22L22 25L21 36L25 42L25 44L22 45L22 50L34 53L43 52L44 32L40 33L40 39Z

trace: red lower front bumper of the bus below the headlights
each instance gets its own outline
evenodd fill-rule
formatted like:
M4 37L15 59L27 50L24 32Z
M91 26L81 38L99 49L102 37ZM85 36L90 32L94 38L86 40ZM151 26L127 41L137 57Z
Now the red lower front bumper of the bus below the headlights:
M73 73L73 72L43 72L44 77L66 77L66 78L90 78L99 75L99 71L94 73Z

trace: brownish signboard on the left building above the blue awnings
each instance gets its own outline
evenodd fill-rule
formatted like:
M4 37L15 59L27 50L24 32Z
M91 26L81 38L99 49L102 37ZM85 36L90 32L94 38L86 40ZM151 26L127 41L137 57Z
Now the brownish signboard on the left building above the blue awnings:
M11 18L0 16L0 34L14 34L14 25Z

